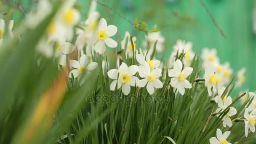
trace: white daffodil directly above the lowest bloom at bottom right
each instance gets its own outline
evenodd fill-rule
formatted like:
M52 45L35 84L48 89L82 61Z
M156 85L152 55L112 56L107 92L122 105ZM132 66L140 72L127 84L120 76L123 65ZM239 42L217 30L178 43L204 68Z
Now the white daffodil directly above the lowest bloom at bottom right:
M230 96L224 96L223 99L219 99L218 101L218 107L216 109L216 113L219 112L223 112L224 109L226 109L230 104L232 104L232 99ZM232 126L232 121L230 119L230 117L232 115L235 115L237 113L237 110L235 109L235 107L229 107L229 112L227 112L227 114L222 118L222 124L224 126L224 128L226 128L226 126L231 127ZM219 115L217 115L219 116Z

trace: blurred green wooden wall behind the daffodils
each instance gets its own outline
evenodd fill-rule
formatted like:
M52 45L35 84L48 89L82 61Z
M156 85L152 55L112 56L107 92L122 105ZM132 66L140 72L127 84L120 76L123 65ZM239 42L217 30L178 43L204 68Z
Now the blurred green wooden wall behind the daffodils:
M23 0L24 8L29 9L33 0ZM91 0L79 0L81 10L86 11ZM230 61L231 67L237 72L246 67L246 82L242 89L255 90L256 81L256 37L252 30L253 0L204 0L219 26L227 38L221 36L200 0L99 0L115 8L131 21L138 18L146 21L150 27L157 24L165 36L165 59L168 59L172 45L177 39L192 41L193 50L201 54L203 47L216 48L221 63ZM176 2L171 2L176 1ZM101 16L109 24L118 27L117 37L123 36L128 30L132 35L144 39L144 33L138 32L127 21L117 14L98 5ZM189 16L192 20L182 20L173 15L179 11L182 16Z

